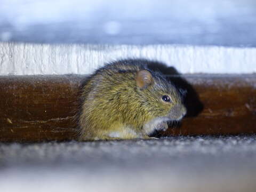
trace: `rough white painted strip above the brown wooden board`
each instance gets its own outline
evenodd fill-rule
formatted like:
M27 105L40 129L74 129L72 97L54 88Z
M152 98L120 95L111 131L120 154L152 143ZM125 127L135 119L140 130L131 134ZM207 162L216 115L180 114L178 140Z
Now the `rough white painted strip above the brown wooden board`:
M91 74L127 58L157 60L182 74L256 73L253 47L0 43L0 75Z

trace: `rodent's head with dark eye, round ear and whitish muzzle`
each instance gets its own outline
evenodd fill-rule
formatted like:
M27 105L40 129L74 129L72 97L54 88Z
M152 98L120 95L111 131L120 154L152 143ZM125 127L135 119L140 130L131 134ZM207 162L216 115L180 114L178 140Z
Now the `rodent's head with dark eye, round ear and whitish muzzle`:
M179 121L186 115L184 91L178 90L161 73L140 70L136 75L136 83L141 106L150 118L163 117L168 121Z

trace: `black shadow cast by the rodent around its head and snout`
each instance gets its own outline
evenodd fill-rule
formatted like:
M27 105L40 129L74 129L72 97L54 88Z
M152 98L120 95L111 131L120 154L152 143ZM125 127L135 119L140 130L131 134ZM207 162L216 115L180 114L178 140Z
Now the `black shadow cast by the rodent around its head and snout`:
M167 67L164 63L158 61L148 61L144 60L148 63L148 68L153 71L159 71L162 74L167 76L167 80L172 82L172 84L177 87L177 89L184 90L186 94L183 98L183 103L187 108L186 117L196 117L201 111L203 110L204 106L203 103L199 100L199 96L194 89L194 87L189 84L185 78L182 77L181 74L174 67ZM178 128L180 127L182 122L178 123L169 123L170 128ZM164 132L154 132L152 137L163 137L167 136ZM169 135L170 136L170 135Z

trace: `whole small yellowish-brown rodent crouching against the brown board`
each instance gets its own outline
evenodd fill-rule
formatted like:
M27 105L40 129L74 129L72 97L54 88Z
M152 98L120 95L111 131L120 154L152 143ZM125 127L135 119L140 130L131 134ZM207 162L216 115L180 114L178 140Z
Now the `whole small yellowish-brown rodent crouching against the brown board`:
M80 140L149 138L186 114L182 93L145 60L120 60L91 75L82 90Z

